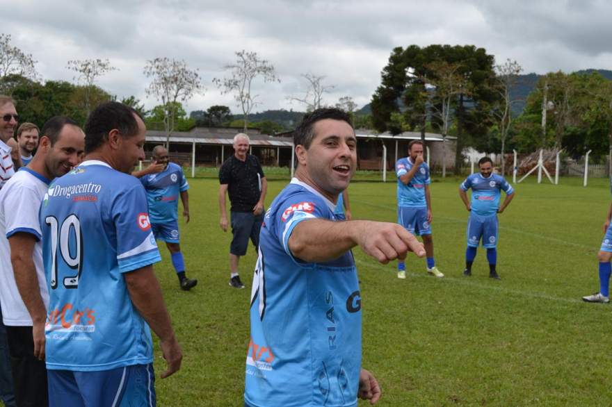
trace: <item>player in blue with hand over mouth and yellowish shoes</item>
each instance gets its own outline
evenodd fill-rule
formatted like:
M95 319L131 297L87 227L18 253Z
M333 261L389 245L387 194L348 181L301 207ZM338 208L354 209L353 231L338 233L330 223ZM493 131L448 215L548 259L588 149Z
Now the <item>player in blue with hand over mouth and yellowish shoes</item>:
M406 158L400 158L395 165L397 175L397 223L413 235L423 238L427 252L427 272L432 276L444 277L435 267L433 238L431 235L431 194L429 166L423 158L423 142L412 140L408 144ZM406 266L398 260L398 279L406 278Z

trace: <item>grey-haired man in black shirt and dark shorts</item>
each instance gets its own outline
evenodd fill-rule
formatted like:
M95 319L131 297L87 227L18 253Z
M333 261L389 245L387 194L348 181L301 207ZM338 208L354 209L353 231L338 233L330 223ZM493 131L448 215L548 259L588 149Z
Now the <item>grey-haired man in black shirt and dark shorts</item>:
M240 256L246 254L248 240L259 248L259 229L264 221L264 199L268 181L257 157L248 154L249 138L244 133L234 136L234 155L225 160L219 170L219 208L221 229L227 231L225 192L230 194L232 244L230 245L230 285L244 288L238 274Z

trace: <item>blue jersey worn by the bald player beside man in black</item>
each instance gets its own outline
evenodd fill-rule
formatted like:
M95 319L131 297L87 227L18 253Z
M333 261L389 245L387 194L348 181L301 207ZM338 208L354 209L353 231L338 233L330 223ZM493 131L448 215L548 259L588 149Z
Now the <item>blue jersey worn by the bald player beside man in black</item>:
M179 165L168 163L162 172L145 175L140 182L147 190L151 222L167 223L179 219L179 194L189 189Z

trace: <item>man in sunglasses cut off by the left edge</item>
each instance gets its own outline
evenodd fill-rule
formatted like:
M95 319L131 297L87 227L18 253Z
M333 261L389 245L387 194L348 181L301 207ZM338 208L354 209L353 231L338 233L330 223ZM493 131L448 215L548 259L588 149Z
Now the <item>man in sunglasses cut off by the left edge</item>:
M10 156L11 147L6 142L13 138L17 127L17 110L13 98L0 95L0 189L15 174L13 159ZM13 376L10 373L10 357L6 331L2 323L2 310L0 309L0 400L5 406L15 406L13 395Z

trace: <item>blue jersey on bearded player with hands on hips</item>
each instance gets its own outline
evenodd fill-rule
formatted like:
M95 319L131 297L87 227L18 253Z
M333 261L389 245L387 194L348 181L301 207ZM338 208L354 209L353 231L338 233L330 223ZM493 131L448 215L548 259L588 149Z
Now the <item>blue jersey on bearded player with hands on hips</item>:
M480 216L497 213L502 190L508 195L514 193L514 189L503 176L491 174L485 178L480 172L465 178L460 188L464 191L472 188L472 213Z

